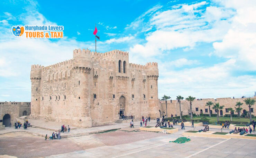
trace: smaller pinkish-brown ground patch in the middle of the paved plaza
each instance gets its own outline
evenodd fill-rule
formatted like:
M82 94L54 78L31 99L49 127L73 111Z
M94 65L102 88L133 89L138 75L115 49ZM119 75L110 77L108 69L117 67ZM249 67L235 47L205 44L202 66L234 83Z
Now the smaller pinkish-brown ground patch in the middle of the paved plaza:
M153 137L159 137L166 134L161 134L157 132L147 132L147 131L115 131L107 132L101 134L94 134L92 137L99 139L102 143L113 146L131 143L135 141L150 139Z

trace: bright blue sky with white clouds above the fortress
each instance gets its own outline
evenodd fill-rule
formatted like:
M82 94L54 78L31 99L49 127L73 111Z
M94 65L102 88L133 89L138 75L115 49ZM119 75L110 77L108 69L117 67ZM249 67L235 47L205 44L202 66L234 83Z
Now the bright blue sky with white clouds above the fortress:
M256 2L2 1L0 101L30 101L30 66L72 58L76 48L129 52L131 63L158 62L159 98L253 96ZM12 26L62 25L63 39L14 37Z

